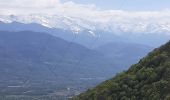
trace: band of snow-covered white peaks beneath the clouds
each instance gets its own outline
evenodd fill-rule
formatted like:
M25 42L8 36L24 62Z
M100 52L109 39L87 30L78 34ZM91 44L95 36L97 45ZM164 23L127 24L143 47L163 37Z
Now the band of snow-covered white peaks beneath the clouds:
M92 20L89 18L70 17L60 14L29 14L0 15L0 21L5 23L37 23L49 28L71 30L75 34L90 30L88 33L92 36L96 35L95 31L97 30L112 33L170 33L169 15L159 17L148 16L139 17L137 15L131 15L124 18L110 15L110 17L107 16L105 20L99 18Z

